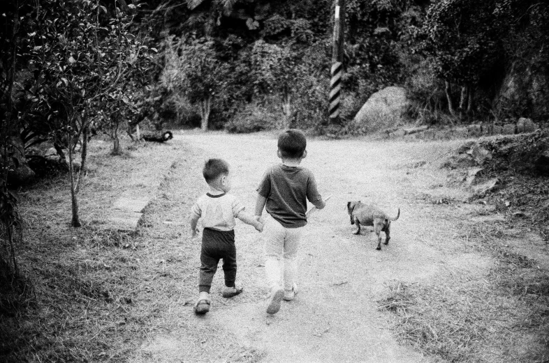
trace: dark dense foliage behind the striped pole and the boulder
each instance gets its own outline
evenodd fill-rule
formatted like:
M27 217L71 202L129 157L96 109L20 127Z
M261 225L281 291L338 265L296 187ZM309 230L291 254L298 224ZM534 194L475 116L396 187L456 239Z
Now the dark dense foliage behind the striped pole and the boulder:
M259 108L265 119L284 120L275 127L322 128L332 1L148 4L142 22L155 25L157 41L192 34L210 42L226 64L227 72L219 73L225 76L224 92L239 97L212 105L214 125L229 121L230 129L238 130L237 123L250 121ZM454 118L545 118L546 95L532 89L547 82L545 15L547 5L530 0L346 1L344 118L349 121L369 95L393 85L409 90L416 109ZM159 59L160 68L166 61ZM532 92L536 95L528 97ZM300 107L292 107L295 102ZM243 124L242 130L264 127Z

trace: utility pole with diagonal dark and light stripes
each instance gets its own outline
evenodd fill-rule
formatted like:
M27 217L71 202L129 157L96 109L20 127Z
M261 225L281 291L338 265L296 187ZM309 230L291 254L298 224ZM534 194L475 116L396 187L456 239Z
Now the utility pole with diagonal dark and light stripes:
M345 0L335 0L334 40L332 49L332 69L330 80L330 126L341 125L339 103L341 100L341 83L343 74L343 45Z

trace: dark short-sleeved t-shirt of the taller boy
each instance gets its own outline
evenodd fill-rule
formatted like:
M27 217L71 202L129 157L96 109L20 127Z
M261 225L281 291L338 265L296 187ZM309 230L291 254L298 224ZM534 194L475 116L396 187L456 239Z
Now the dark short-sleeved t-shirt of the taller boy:
M270 167L265 172L257 192L267 199L267 212L286 228L305 226L307 199L311 203L322 200L309 169L284 164Z

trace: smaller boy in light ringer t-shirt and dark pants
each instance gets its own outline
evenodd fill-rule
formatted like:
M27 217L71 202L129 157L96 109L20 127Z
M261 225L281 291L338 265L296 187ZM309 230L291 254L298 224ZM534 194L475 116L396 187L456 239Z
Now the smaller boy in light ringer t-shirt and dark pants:
M260 232L263 230L263 224L244 212L244 206L240 201L228 194L231 178L225 160L208 160L204 165L203 175L210 191L198 198L191 212L192 236L197 233L196 224L200 217L204 227L200 251L200 294L194 306L196 314L206 314L210 311L210 287L220 259L223 259L225 274L223 297L232 298L242 292L242 287L235 285L235 218L254 226Z

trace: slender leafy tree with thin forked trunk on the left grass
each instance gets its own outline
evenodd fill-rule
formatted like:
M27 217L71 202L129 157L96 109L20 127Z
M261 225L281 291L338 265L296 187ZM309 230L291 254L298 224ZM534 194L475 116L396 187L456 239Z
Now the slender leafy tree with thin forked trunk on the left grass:
M116 3L115 3L116 4ZM129 32L132 17L89 0L45 0L36 6L36 28L29 33L29 71L33 85L27 103L51 129L55 144L68 149L73 217L80 226L77 194L86 167L89 125L99 109L109 109L115 89L127 84L147 59L143 40ZM106 18L106 20L103 20ZM82 139L80 172L73 167L75 141ZM61 146L59 146L61 148Z

